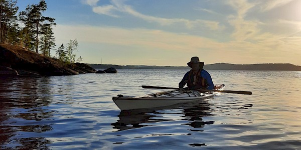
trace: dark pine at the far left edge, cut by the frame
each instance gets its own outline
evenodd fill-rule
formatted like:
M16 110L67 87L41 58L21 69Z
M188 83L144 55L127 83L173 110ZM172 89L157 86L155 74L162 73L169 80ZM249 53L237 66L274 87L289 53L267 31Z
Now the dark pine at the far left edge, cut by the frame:
M18 34L17 0L0 0L0 42L11 42ZM8 41L10 39L10 41Z

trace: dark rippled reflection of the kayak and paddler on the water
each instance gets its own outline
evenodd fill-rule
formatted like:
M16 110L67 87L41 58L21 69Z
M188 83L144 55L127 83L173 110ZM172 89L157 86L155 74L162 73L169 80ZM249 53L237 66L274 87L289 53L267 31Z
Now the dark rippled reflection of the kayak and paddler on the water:
M189 120L189 123L185 125L192 126L193 128L204 127L205 124L213 124L214 121L202 121L203 116L211 116L214 111L208 101L196 102L190 104L177 104L172 106L148 108L148 109L133 109L133 110L121 110L117 122L111 123L113 128L117 128L117 131L150 126L147 124L174 120L175 118L162 119L157 118L162 115L169 115L171 112L164 112L165 110L177 109L179 111L173 112L181 116L182 120Z

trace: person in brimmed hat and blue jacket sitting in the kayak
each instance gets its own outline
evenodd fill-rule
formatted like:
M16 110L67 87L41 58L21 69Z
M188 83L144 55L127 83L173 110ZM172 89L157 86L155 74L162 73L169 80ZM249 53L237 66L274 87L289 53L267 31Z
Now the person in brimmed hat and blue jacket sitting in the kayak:
M189 89L214 89L211 75L203 69L204 62L200 62L199 57L191 57L187 64L191 70L184 75L179 83L180 88L187 84Z

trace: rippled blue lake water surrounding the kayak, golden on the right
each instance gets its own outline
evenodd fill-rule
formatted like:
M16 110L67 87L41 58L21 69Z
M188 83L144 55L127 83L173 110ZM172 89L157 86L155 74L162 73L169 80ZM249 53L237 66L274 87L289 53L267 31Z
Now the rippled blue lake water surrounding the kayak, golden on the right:
M0 149L300 149L301 71L208 70L252 95L121 111L112 96L177 87L188 70L1 77Z

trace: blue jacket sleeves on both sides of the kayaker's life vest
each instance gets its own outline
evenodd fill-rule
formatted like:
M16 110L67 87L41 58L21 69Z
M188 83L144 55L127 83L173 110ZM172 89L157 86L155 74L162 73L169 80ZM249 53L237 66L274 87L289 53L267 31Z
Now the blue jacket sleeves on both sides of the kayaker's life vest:
M181 80L181 82L179 83L179 87L183 88L185 86L185 84L188 81L188 77L189 77L189 73L190 71L188 71L187 73L185 73L183 79ZM205 82L207 83L207 89L214 89L214 84L211 78L211 75L204 69L201 70L200 72L201 77L203 77L205 79Z

